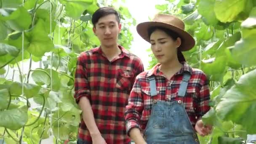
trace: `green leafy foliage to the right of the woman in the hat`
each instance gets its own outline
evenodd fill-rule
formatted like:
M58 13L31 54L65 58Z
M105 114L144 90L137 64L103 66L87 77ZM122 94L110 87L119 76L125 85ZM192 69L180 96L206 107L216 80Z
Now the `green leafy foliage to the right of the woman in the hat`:
M211 110L203 121L214 127L210 136L200 137L201 144L235 144L256 133L255 1L169 0L155 8L183 19L196 40L184 56L210 80ZM151 68L157 60L149 56Z

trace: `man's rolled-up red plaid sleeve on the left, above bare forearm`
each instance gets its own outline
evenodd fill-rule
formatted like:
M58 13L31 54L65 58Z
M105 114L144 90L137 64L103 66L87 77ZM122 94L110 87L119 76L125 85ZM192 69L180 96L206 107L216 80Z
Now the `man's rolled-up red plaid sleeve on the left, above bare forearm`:
M79 56L77 59L77 68L75 71L75 101L78 104L81 97L86 96L91 101L90 88L87 79L87 71L85 63L83 62L83 56Z

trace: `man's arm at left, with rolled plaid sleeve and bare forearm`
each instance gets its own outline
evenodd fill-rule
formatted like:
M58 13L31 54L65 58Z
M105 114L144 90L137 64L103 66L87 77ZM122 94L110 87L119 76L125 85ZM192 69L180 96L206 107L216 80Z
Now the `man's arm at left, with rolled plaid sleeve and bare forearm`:
M101 133L97 128L95 123L93 110L91 108L91 95L90 88L87 78L87 70L85 68L85 63L83 62L83 57L79 56L77 60L77 69L75 72L75 95L74 98L80 109L83 112L83 120L85 122L88 131L91 134L93 141L96 144L104 144L104 139L101 137ZM95 141L96 140L96 141ZM99 140L99 142L98 142ZM103 142L103 143L102 143Z

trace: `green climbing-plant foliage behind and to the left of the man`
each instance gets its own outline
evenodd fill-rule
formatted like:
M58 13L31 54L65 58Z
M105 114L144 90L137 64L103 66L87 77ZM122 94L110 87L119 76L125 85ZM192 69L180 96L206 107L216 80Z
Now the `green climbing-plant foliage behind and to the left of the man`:
M0 75L18 71L19 81L0 78L0 139L7 144L75 141L80 109L73 99L79 53L99 46L91 15L97 0L0 0ZM119 43L129 49L135 20L124 5ZM25 72L20 66L29 63ZM43 64L32 68L32 64ZM18 69L18 70L17 70ZM36 107L31 107L35 103ZM34 104L34 105L35 105Z

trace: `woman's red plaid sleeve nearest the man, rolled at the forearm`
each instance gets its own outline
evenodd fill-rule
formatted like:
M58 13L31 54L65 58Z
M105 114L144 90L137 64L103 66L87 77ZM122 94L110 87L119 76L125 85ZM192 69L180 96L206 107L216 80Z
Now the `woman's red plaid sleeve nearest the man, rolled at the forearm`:
M132 128L139 128L141 130L140 119L143 109L144 103L141 97L141 86L139 78L136 77L128 99L128 105L125 107L125 125L128 136Z

